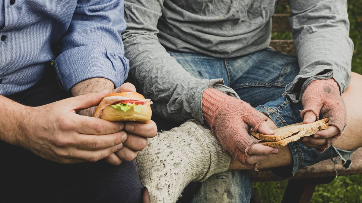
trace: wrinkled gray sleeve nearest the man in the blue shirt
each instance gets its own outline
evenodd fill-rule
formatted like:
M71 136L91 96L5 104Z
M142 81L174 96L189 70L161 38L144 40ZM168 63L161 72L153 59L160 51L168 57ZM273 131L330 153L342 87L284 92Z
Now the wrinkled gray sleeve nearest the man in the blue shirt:
M130 60L129 78L137 90L153 101L152 111L175 121L194 118L203 123L201 98L206 88L236 93L222 79L191 76L171 57L157 39L157 21L163 0L126 0L127 29L122 34L125 56Z

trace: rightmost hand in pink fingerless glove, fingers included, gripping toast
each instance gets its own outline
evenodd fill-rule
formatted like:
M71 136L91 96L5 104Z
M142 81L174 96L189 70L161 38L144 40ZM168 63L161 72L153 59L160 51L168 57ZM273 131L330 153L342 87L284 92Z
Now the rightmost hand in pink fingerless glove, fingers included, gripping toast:
M317 131L315 135L302 140L307 147L324 151L341 136L347 122L346 107L337 82L333 78L311 82L302 95L302 104L304 110L300 115L305 124L318 120L319 115L329 118L329 129Z

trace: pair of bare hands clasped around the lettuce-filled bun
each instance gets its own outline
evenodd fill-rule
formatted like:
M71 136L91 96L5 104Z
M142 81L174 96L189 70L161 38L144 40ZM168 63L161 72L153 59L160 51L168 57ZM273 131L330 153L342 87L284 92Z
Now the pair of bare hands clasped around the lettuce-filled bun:
M114 92L135 91L125 83ZM109 122L91 117L94 106L109 91L89 93L41 107L24 107L24 124L14 143L58 163L80 163L105 159L119 165L134 159L157 133L152 120L148 124ZM87 109L85 111L81 111ZM80 112L78 114L78 112ZM87 115L87 116L85 116Z

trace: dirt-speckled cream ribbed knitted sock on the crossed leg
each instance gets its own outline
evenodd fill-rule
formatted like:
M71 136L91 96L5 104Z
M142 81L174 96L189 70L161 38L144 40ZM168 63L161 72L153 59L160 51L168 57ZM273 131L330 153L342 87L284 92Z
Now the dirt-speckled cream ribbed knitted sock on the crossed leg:
M151 202L176 202L191 181L228 170L230 157L210 129L190 120L150 139L136 165Z

